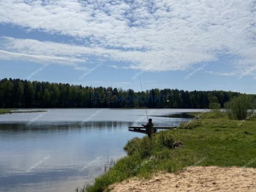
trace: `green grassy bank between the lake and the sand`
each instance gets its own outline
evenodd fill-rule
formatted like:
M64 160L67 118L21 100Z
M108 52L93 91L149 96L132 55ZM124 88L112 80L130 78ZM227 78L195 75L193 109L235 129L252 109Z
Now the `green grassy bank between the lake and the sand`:
M179 172L187 166L256 167L255 118L238 126L241 121L229 120L220 111L197 115L179 129L155 134L152 141L147 137L129 141L124 147L129 155L84 191L102 191L130 177L149 178L158 171ZM173 148L174 141L183 147Z

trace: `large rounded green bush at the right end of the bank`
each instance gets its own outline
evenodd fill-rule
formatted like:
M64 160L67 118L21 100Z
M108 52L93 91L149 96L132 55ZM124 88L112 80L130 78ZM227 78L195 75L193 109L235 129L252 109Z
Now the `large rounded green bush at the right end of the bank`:
M241 94L236 98L226 102L224 107L229 119L243 120L249 116L254 109L252 98L249 95Z

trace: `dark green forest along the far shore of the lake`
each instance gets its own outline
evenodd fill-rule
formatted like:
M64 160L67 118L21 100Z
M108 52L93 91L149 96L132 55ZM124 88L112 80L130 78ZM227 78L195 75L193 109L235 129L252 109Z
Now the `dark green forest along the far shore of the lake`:
M240 93L151 89L134 92L113 87L91 87L1 79L0 108L209 108Z

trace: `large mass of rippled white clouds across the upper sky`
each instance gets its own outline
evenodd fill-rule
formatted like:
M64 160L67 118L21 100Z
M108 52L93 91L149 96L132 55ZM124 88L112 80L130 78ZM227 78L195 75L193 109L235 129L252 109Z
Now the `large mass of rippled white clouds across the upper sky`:
M17 56L21 59L54 57L55 62L76 65L91 57L107 58L126 61L116 67L141 70L182 70L229 54L236 58L234 71L239 73L256 63L255 4L253 0L2 0L1 23L73 36L84 45L5 37L1 49L25 54Z

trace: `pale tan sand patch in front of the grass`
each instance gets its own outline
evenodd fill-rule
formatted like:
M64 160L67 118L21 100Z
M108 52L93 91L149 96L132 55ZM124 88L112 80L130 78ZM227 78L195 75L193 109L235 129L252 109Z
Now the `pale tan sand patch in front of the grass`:
M132 178L109 187L111 191L256 191L256 169L188 167L179 174L158 173L150 180Z

